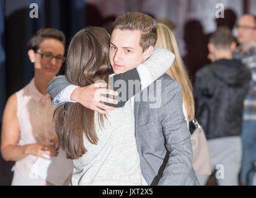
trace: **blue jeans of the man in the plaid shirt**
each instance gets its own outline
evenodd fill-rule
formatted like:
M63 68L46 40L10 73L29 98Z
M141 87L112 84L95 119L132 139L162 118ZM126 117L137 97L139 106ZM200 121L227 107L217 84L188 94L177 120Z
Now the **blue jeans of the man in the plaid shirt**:
M244 185L252 186L256 161L256 121L244 121L242 127L241 180Z

